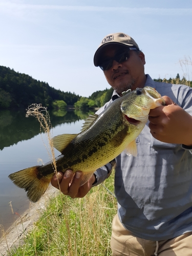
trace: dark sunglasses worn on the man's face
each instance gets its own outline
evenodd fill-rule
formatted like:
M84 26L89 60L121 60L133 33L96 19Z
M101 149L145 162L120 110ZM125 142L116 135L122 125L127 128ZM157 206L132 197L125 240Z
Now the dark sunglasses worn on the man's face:
M109 59L104 60L103 62L101 62L99 67L102 69L102 71L104 71L104 70L109 70L113 67L113 61L114 60L116 60L119 63L124 62L125 60L129 59L130 50L138 50L138 49L136 49L134 47L130 47L130 48L127 48L127 50L124 51L124 52L116 53L114 57L109 58Z

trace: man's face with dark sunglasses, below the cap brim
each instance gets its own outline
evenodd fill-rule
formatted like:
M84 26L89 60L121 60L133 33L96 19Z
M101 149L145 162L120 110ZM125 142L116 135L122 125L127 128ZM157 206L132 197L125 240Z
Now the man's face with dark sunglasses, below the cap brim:
M117 52L124 51L124 49L124 47L109 46L103 52L102 59L113 58ZM144 87L146 81L144 64L144 54L130 50L130 58L121 63L113 60L113 66L103 72L108 83L121 96L121 93L128 89L135 90Z

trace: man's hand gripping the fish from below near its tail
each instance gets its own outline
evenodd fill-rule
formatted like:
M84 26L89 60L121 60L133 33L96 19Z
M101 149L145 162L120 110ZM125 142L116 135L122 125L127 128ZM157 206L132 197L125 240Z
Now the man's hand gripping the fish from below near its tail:
M57 176L54 175L54 177L52 178L51 184L56 188L59 188L60 186L60 190L64 195L70 196L71 198L82 198L86 196L89 190L92 188L92 184L95 181L95 176L93 175L86 184L79 186L81 182L81 176L81 172L76 172L71 182L71 179L73 177L72 170L66 170L64 175L63 173L58 172Z

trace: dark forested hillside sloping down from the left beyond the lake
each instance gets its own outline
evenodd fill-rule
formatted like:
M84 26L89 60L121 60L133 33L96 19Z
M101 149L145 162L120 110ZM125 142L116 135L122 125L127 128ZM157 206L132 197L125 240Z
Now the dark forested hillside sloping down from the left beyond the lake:
M0 66L1 109L27 108L32 103L41 103L49 109L55 100L63 100L67 105L74 105L79 98L79 95L56 90L46 82L37 81L29 75Z

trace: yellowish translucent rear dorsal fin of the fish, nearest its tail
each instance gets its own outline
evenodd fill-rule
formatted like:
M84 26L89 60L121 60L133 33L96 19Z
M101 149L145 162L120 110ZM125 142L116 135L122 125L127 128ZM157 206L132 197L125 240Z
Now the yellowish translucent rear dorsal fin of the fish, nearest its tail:
M61 134L53 137L53 146L60 153L66 148L66 146L77 136L77 134Z

